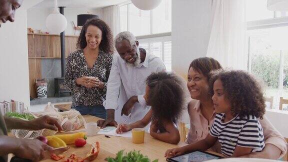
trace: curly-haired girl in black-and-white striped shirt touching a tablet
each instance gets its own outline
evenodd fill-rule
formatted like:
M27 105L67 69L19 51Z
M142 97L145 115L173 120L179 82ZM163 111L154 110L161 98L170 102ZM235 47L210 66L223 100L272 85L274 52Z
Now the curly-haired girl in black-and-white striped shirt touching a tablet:
M264 136L258 117L265 113L265 103L259 83L247 72L240 70L214 71L210 87L217 113L209 134L195 143L168 149L165 156L174 156L194 150L206 150L216 140L221 152L228 157L238 157L261 151Z

